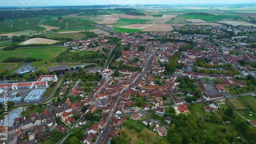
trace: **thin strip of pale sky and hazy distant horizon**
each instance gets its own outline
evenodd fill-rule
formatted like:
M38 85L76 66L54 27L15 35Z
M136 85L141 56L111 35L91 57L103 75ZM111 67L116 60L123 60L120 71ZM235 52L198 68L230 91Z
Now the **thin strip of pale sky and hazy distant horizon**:
M46 5L47 4L47 5ZM93 2L84 2L82 0L73 0L66 1L63 0L61 4L56 1L50 1L45 0L42 1L35 1L35 0L27 0L25 2L22 2L20 0L13 0L12 2L4 1L2 2L2 6L0 7L54 7L54 6L108 6L108 5L199 5L199 6L206 6L206 5L248 5L253 4L255 5L256 2L252 0L247 1L239 1L239 0L233 0L233 1L221 1L216 0L215 2L212 1L195 1L195 0L184 0L183 2L166 2L165 0L159 0L157 3L153 0L147 0L147 1L139 1L138 0L110 0L110 1L103 1L103 0L95 0Z

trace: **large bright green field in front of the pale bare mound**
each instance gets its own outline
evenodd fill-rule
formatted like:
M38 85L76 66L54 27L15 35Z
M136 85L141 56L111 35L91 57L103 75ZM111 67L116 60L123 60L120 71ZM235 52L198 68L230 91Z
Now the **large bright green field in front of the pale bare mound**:
M38 58L41 61L32 62L35 67L40 67L45 64L45 62L51 61L59 53L65 52L67 47L61 46L36 46L36 47L21 47L12 51L0 50L0 62L3 62L8 57L20 57L20 58Z

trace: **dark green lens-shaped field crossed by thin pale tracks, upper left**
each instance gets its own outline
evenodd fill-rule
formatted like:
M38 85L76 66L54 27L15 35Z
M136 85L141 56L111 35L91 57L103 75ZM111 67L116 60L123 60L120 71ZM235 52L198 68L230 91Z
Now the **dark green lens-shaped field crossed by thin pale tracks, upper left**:
M80 18L73 18L73 17L62 18L58 20L49 20L44 22L44 25L60 27L60 28L90 26L93 24L96 24L96 22L87 20L87 19L80 19Z

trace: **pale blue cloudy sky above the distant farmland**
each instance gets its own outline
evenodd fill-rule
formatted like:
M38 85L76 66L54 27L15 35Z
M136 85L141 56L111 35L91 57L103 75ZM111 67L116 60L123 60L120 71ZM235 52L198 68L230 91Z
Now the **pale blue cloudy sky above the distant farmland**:
M70 5L125 5L125 4L248 4L256 3L255 0L7 0L1 1L0 6L70 6Z

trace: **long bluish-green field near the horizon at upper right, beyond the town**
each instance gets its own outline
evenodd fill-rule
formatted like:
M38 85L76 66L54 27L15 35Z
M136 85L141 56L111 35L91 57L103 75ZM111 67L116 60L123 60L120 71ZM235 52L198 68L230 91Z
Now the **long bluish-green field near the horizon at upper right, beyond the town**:
M193 14L193 15L188 15L188 14L182 14L182 17L185 19L202 19L205 21L216 21L216 20L223 20L223 19L231 19L231 18L236 18L239 17L238 15L208 15L204 16L202 14Z

